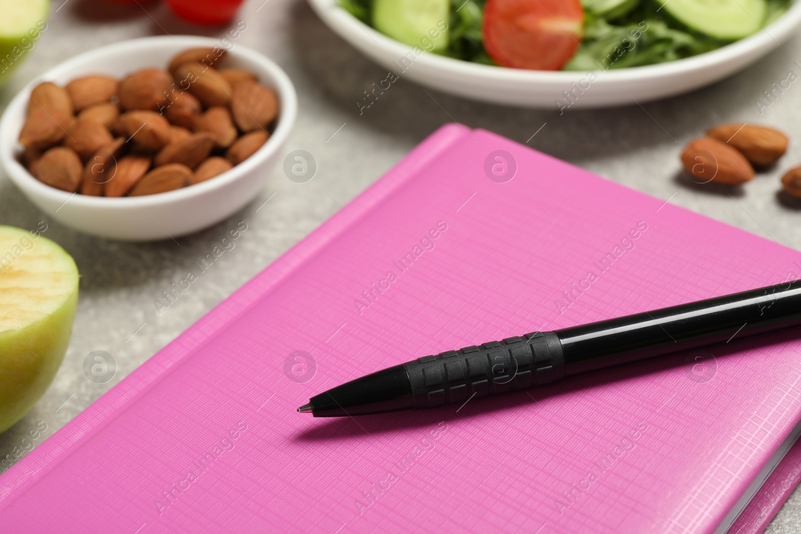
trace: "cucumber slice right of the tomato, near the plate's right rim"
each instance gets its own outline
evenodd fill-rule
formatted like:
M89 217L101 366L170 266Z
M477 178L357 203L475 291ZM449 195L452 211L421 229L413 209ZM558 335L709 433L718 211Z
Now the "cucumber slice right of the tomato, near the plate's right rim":
M662 8L690 29L726 40L761 29L767 14L766 0L667 0Z

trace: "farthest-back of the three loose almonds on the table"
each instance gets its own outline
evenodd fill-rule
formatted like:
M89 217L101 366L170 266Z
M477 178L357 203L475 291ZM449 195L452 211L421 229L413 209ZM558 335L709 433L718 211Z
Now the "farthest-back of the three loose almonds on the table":
M766 126L731 122L706 130L706 135L728 143L758 167L767 167L787 152L787 135Z

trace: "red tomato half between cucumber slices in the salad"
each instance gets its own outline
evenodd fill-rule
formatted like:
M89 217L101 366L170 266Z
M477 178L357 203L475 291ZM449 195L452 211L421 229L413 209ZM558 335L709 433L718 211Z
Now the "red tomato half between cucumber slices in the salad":
M501 66L559 70L582 42L580 0L487 0L484 47Z

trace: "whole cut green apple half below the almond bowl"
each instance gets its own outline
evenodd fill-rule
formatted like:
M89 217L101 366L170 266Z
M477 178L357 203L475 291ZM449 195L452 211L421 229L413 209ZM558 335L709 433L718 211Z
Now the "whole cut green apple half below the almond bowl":
M0 226L0 432L50 386L77 305L72 257L36 231Z

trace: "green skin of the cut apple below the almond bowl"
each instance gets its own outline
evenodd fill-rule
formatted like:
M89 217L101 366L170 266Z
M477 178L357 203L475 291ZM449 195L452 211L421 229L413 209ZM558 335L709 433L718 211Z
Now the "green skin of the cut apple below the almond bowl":
M0 226L21 238L31 233ZM36 404L53 381L70 343L75 309L78 306L78 267L62 247L39 235L35 247L66 256L69 261L61 275L71 287L60 307L43 319L15 330L0 331L0 432L6 431ZM64 258L61 258L64 261ZM5 273L0 273L0 277ZM35 293L34 293L35 295ZM0 303L0 315L3 313Z

